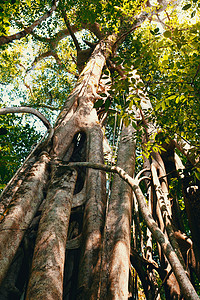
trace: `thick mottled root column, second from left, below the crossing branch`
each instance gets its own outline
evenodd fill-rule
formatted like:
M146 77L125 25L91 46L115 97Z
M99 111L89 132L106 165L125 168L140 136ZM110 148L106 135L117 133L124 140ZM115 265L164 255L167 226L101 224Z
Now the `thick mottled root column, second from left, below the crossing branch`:
M34 250L26 299L62 299L68 224L76 172L54 166Z

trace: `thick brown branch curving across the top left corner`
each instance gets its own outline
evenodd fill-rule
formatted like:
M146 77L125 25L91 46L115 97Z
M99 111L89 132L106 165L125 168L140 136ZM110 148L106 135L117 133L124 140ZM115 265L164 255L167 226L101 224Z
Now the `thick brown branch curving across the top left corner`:
M45 13L42 17L34 21L30 26L26 27L24 30L12 34L10 36L1 36L0 46L8 44L14 40L20 40L21 38L25 37L27 34L30 34L35 27L37 27L42 21L46 20L52 14L52 12L56 10L57 7L56 2L57 0L54 0L52 8L47 13Z

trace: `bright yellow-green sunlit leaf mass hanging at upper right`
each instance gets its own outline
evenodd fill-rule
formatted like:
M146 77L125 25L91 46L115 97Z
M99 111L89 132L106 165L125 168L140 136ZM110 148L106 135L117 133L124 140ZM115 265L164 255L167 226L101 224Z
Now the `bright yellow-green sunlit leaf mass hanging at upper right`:
M163 33L166 27L167 30ZM170 138L184 138L198 149L200 23L182 23L174 16L166 22L164 28L150 23L126 38L119 49L120 57L115 61L123 63L128 77L125 81L115 83L115 93L129 93L135 85L131 81L131 69L132 66L137 68L153 105L153 120ZM141 88L141 83L138 88ZM131 101L120 103L121 113L133 103L138 106L137 95L128 100Z

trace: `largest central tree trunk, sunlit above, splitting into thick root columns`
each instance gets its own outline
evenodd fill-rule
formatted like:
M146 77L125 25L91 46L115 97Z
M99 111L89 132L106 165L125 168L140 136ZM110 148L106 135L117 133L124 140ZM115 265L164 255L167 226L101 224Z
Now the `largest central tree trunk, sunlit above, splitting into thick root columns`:
M82 174L82 170L78 170L76 176L74 172L59 167L59 163L70 160L103 163L103 135L93 103L97 97L102 69L114 42L115 35L97 45L58 117L53 144L49 142L48 145L44 144L45 148L40 148L41 158L36 158L29 176L22 177L20 183L18 180L12 182L11 188L15 194L9 202L13 204L10 207L7 205L1 222L4 233L1 234L1 281L44 199L44 189L48 184L27 299L62 299L64 252L70 211L73 207L72 195L74 191L76 202L76 195L81 193L83 187L85 210L77 294L80 299L96 299L99 281L96 274L100 273L99 258L106 202L105 173L90 169ZM84 140L82 148L78 145L81 139ZM47 152L42 152L43 150ZM39 157L39 153L35 155ZM76 177L78 181L75 185ZM80 181L83 182L82 186ZM8 190L10 191L9 188ZM74 206L76 205L80 204ZM5 241L9 241L8 247L5 247Z

